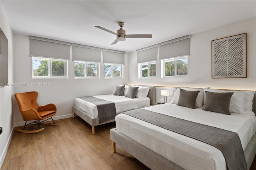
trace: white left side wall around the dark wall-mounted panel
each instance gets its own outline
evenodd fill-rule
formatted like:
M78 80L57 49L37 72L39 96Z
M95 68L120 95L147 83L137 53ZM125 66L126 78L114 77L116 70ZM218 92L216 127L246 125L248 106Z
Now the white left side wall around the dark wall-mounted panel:
M3 30L6 38L8 39L8 82L13 83L13 33L2 6L0 6L0 27ZM12 113L13 94L14 87L0 87L0 127L3 127L3 132L0 135L0 166L2 166L2 163L4 161L4 157L6 155L14 127L14 117Z

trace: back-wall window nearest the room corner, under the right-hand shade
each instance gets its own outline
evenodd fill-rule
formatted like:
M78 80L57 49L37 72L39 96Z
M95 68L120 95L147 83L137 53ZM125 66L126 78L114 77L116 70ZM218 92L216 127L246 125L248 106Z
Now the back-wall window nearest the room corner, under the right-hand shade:
M106 64L105 63L105 78L121 78L122 77L122 65L118 64Z

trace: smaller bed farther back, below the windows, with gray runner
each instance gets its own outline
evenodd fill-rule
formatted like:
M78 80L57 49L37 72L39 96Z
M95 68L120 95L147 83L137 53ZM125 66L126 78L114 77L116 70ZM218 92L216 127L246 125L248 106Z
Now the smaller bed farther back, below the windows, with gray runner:
M120 87L124 87L122 93L119 93L117 90ZM98 125L103 125L105 123L110 123L115 121L115 116L124 111L129 111L133 109L138 109L142 107L148 107L155 103L155 87L146 87L146 86L131 86L138 87L136 91L136 96L129 96L129 87L128 85L118 85L116 87L117 95L94 95L91 96L93 101L100 100L110 102L113 105L106 110L106 107L103 107L103 111L98 110L99 107L94 102L88 101L88 97L78 97L75 99L75 105L73 106L73 118L75 114L81 117L84 121L92 126L92 134L95 134L94 127ZM103 113L103 112L106 113ZM106 115L109 111L114 111L114 115L110 118L104 120L100 119L100 115Z

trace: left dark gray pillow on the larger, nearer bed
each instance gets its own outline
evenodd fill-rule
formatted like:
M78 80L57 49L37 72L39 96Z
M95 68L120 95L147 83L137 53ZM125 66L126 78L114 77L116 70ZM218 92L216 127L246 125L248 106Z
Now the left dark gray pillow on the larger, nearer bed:
M184 89L180 89L180 97L177 105L188 107L191 109L196 108L196 97L200 91L187 91Z

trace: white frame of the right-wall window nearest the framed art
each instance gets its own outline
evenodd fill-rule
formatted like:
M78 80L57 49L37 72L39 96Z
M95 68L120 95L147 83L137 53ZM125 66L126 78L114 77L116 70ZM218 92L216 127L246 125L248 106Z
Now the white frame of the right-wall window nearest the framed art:
M177 60L187 59L188 61L188 55L182 56L182 57L173 57L168 59L162 59L161 60L161 78L182 78L182 77L188 77L187 75L177 75ZM165 76L165 63L174 61L174 75L173 76Z

